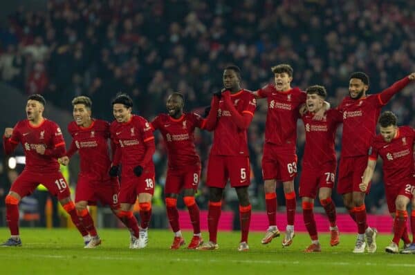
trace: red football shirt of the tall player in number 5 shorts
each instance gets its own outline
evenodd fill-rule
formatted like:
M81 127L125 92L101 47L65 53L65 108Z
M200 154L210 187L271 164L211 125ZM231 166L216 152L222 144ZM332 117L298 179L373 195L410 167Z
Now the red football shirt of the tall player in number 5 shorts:
M231 94L230 100L241 115L254 115L257 108L255 95L247 90ZM212 155L241 155L248 156L247 131L238 128L232 121L232 115L225 106L223 99L219 101L218 120L214 128L214 138L210 154Z

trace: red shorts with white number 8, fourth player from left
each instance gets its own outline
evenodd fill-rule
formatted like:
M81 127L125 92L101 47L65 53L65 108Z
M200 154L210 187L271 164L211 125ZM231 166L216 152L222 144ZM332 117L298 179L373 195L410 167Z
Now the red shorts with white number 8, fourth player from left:
M190 166L181 169L167 169L165 184L166 194L178 194L182 189L194 189L197 191L201 178L201 167Z

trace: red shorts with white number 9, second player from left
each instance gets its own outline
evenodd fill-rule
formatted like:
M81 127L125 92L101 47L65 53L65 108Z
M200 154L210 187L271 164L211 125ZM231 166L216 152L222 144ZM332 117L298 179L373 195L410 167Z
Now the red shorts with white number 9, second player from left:
M120 208L120 202L118 202L119 191L120 184L117 178L109 178L101 182L80 175L76 185L75 202L84 200L89 205L96 205L99 201L102 205L109 205L112 209L118 209Z

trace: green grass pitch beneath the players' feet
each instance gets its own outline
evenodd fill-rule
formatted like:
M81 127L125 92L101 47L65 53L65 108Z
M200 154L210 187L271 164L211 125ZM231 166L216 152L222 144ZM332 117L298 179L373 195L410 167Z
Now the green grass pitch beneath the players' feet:
M413 255L387 254L391 235L378 235L376 254L351 253L355 235L340 235L340 245L330 247L329 235L320 234L322 252L305 254L306 234L297 234L291 247L282 248L284 236L261 245L262 233L251 233L250 251L238 252L239 232L219 232L219 250L169 249L173 234L149 230L145 249L129 249L127 229L100 229L102 245L84 249L74 229L21 229L22 247L0 247L0 274L412 274ZM283 232L282 232L283 233ZM183 232L186 242L192 233ZM1 240L9 237L0 228ZM207 232L203 237L208 238Z

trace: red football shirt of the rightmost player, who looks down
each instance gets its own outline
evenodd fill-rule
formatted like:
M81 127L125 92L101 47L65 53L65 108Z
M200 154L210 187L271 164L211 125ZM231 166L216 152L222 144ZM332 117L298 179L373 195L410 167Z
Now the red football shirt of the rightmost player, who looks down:
M398 135L391 142L385 142L382 135L376 135L371 141L369 160L383 160L383 178L385 184L404 183L414 175L415 130L409 126L398 128Z

